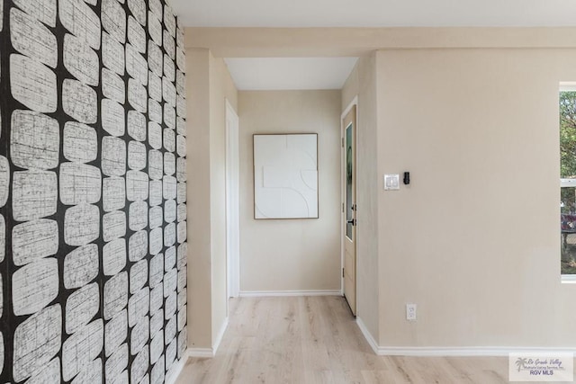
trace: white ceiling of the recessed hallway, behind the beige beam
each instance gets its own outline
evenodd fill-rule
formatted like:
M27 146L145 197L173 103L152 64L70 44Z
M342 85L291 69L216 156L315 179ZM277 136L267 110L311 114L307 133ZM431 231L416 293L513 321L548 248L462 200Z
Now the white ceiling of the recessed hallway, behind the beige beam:
M357 58L225 58L238 91L341 89Z

